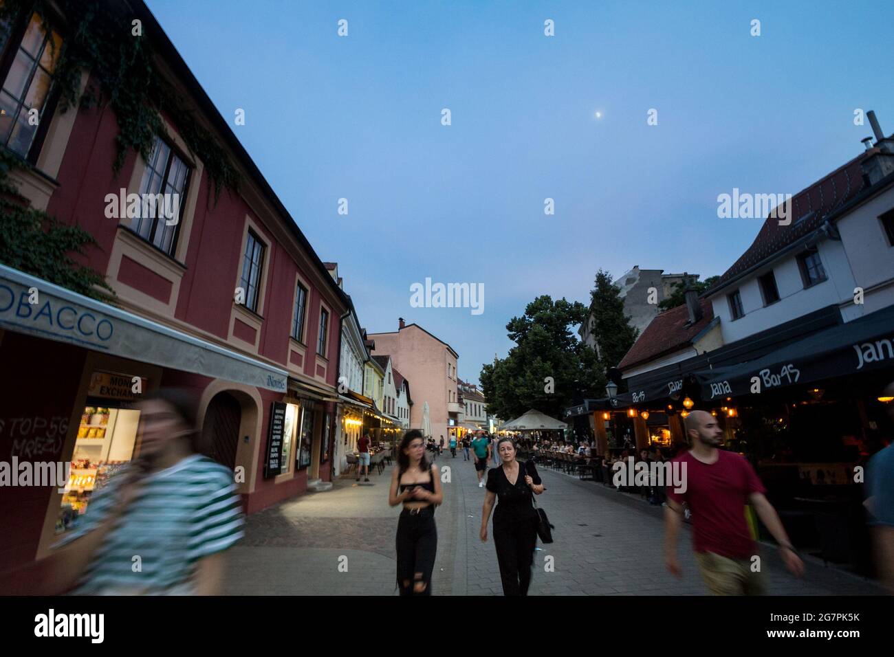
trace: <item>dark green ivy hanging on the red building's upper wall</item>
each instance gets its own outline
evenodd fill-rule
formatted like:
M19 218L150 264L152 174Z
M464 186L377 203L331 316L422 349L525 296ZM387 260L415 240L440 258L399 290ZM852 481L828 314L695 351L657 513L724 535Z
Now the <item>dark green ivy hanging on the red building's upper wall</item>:
M190 151L205 165L215 190L238 191L240 176L214 136L198 122L181 94L156 68L147 36L134 23L127 3L97 0L55 0L63 15L50 11L50 0L0 0L0 24L13 24L22 13L38 13L46 29L63 34L56 60L54 86L59 110L105 106L118 122L113 172L119 173L128 152L148 159L156 135L167 136L162 114L177 126ZM49 42L53 44L52 39ZM90 72L88 88L80 91L81 72ZM9 172L29 165L0 146L0 262L73 291L111 300L112 289L102 274L79 265L71 254L85 254L96 240L79 226L59 223L21 197ZM112 292L114 294L114 292Z

